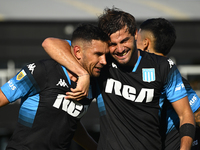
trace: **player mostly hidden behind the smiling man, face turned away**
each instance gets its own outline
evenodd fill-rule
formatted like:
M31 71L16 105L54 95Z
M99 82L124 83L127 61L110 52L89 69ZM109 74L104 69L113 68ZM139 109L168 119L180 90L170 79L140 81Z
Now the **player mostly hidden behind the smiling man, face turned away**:
M156 55L166 56L174 45L175 40L176 31L171 22L164 18L152 18L144 21L140 25L137 35L137 48ZM192 150L199 150L198 143L200 141L197 132L200 127L200 98L184 78L183 83L187 90L190 106L195 114L197 126ZM161 119L161 135L164 142L164 149L180 149L180 135L178 130L179 118L168 101L165 101Z

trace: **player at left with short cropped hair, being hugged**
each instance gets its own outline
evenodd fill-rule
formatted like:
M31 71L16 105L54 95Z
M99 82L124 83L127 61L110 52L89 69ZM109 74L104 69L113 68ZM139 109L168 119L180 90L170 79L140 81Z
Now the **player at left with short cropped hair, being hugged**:
M7 150L67 150L74 135L85 149L96 149L96 142L81 130L79 123L94 92L90 90L88 97L79 102L64 97L81 77L100 75L107 63L108 39L98 27L81 25L74 31L68 48L87 74L77 76L52 59L42 60L28 64L1 87L0 106L21 98L17 127ZM80 128L75 133L77 126Z

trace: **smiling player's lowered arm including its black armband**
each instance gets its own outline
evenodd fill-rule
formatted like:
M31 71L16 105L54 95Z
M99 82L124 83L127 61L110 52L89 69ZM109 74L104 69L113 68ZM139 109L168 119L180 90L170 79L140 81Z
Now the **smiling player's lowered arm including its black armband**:
M179 133L181 136L180 150L190 150L195 135L194 115L189 105L188 97L172 103L180 119Z

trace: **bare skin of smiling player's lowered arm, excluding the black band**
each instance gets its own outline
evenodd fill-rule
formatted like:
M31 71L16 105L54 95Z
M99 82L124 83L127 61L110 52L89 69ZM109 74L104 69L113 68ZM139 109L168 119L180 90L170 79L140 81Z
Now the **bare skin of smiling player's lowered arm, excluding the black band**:
M185 123L190 123L195 125L194 115L189 105L188 97L184 97L178 101L172 103L176 113L180 119L180 127ZM184 136L181 138L180 150L189 150L192 145L193 139L189 136Z

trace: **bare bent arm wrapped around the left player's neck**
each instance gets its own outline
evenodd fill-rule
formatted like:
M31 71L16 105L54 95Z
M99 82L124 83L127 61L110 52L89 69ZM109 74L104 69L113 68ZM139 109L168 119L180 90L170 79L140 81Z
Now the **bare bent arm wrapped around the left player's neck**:
M77 86L67 93L67 99L80 100L86 97L89 91L90 76L71 54L71 47L66 40L46 38L42 47L55 61L65 66L78 76Z

